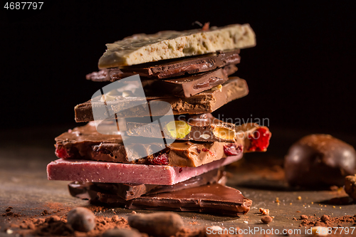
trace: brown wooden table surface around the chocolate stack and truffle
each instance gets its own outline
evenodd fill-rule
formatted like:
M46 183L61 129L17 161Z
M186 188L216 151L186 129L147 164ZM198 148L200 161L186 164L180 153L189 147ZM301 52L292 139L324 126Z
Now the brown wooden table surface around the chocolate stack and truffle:
M0 137L0 213L4 213L8 206L14 207L14 212L26 216L41 216L43 210L56 211L58 206L69 210L75 206L88 206L88 201L76 199L68 193L68 181L48 181L46 165L56 159L53 138L71 127L38 127L19 131L8 130L1 132ZM301 214L308 216L355 215L356 205L347 204L335 206L328 204L328 200L335 197L347 196L343 190L302 190L288 187L283 179L283 157L290 144L295 142L305 131L271 129L273 136L271 146L266 153L246 154L245 157L228 167L230 177L229 186L241 190L244 196L253 200L251 211L236 218L226 216L212 216L209 214L184 213L187 226L192 228L201 226L231 226L239 228L299 228ZM346 142L356 144L355 137L338 136ZM298 199L300 196L300 199ZM279 204L276 199L279 199ZM261 223L259 208L269 209L274 216L268 226ZM135 210L137 213L152 211ZM132 210L110 208L98 212L97 215L127 216ZM0 215L0 235L4 233L9 223L16 222L16 218ZM19 218L21 220L21 218ZM17 220L17 221L19 221ZM345 225L347 226L347 225ZM300 228L301 233L305 228ZM354 233L356 235L356 231Z

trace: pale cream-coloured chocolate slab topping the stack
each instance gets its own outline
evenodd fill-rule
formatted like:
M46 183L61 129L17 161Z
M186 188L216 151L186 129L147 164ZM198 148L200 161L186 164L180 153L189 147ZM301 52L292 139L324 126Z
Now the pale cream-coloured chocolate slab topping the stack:
M158 60L195 56L256 45L255 33L248 24L229 25L190 31L145 33L108 43L99 68L116 68Z

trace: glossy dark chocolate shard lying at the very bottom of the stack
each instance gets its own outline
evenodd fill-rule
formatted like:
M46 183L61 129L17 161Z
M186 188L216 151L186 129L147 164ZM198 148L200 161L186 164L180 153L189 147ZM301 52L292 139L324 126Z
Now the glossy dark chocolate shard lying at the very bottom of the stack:
M246 214L252 201L241 191L221 184L208 184L179 191L142 195L125 200L88 184L69 184L70 194L80 199L89 199L92 204L109 204L127 209L164 211L192 211L225 216Z

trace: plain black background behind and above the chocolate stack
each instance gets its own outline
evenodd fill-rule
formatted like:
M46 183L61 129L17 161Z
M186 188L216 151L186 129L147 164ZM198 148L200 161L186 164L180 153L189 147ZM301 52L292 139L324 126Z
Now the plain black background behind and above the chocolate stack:
M250 23L257 46L236 75L250 93L224 117L268 117L270 127L323 133L355 129L355 4L352 1L45 1L6 10L1 1L1 130L74 127L73 107L105 84L85 80L105 43L133 33ZM64 131L63 131L64 132Z

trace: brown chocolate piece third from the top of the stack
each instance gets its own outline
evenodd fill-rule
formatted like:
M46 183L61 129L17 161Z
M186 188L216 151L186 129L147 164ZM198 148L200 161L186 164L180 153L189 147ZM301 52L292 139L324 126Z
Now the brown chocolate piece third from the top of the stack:
M204 90L209 90L225 83L226 80L229 80L228 75L235 73L236 70L236 66L229 65L225 68L219 68L207 73L199 73L168 80L147 80L147 83L150 83L147 88L152 90L152 95L155 91L160 90L169 95L188 98ZM145 83L145 81L143 81L143 83Z

